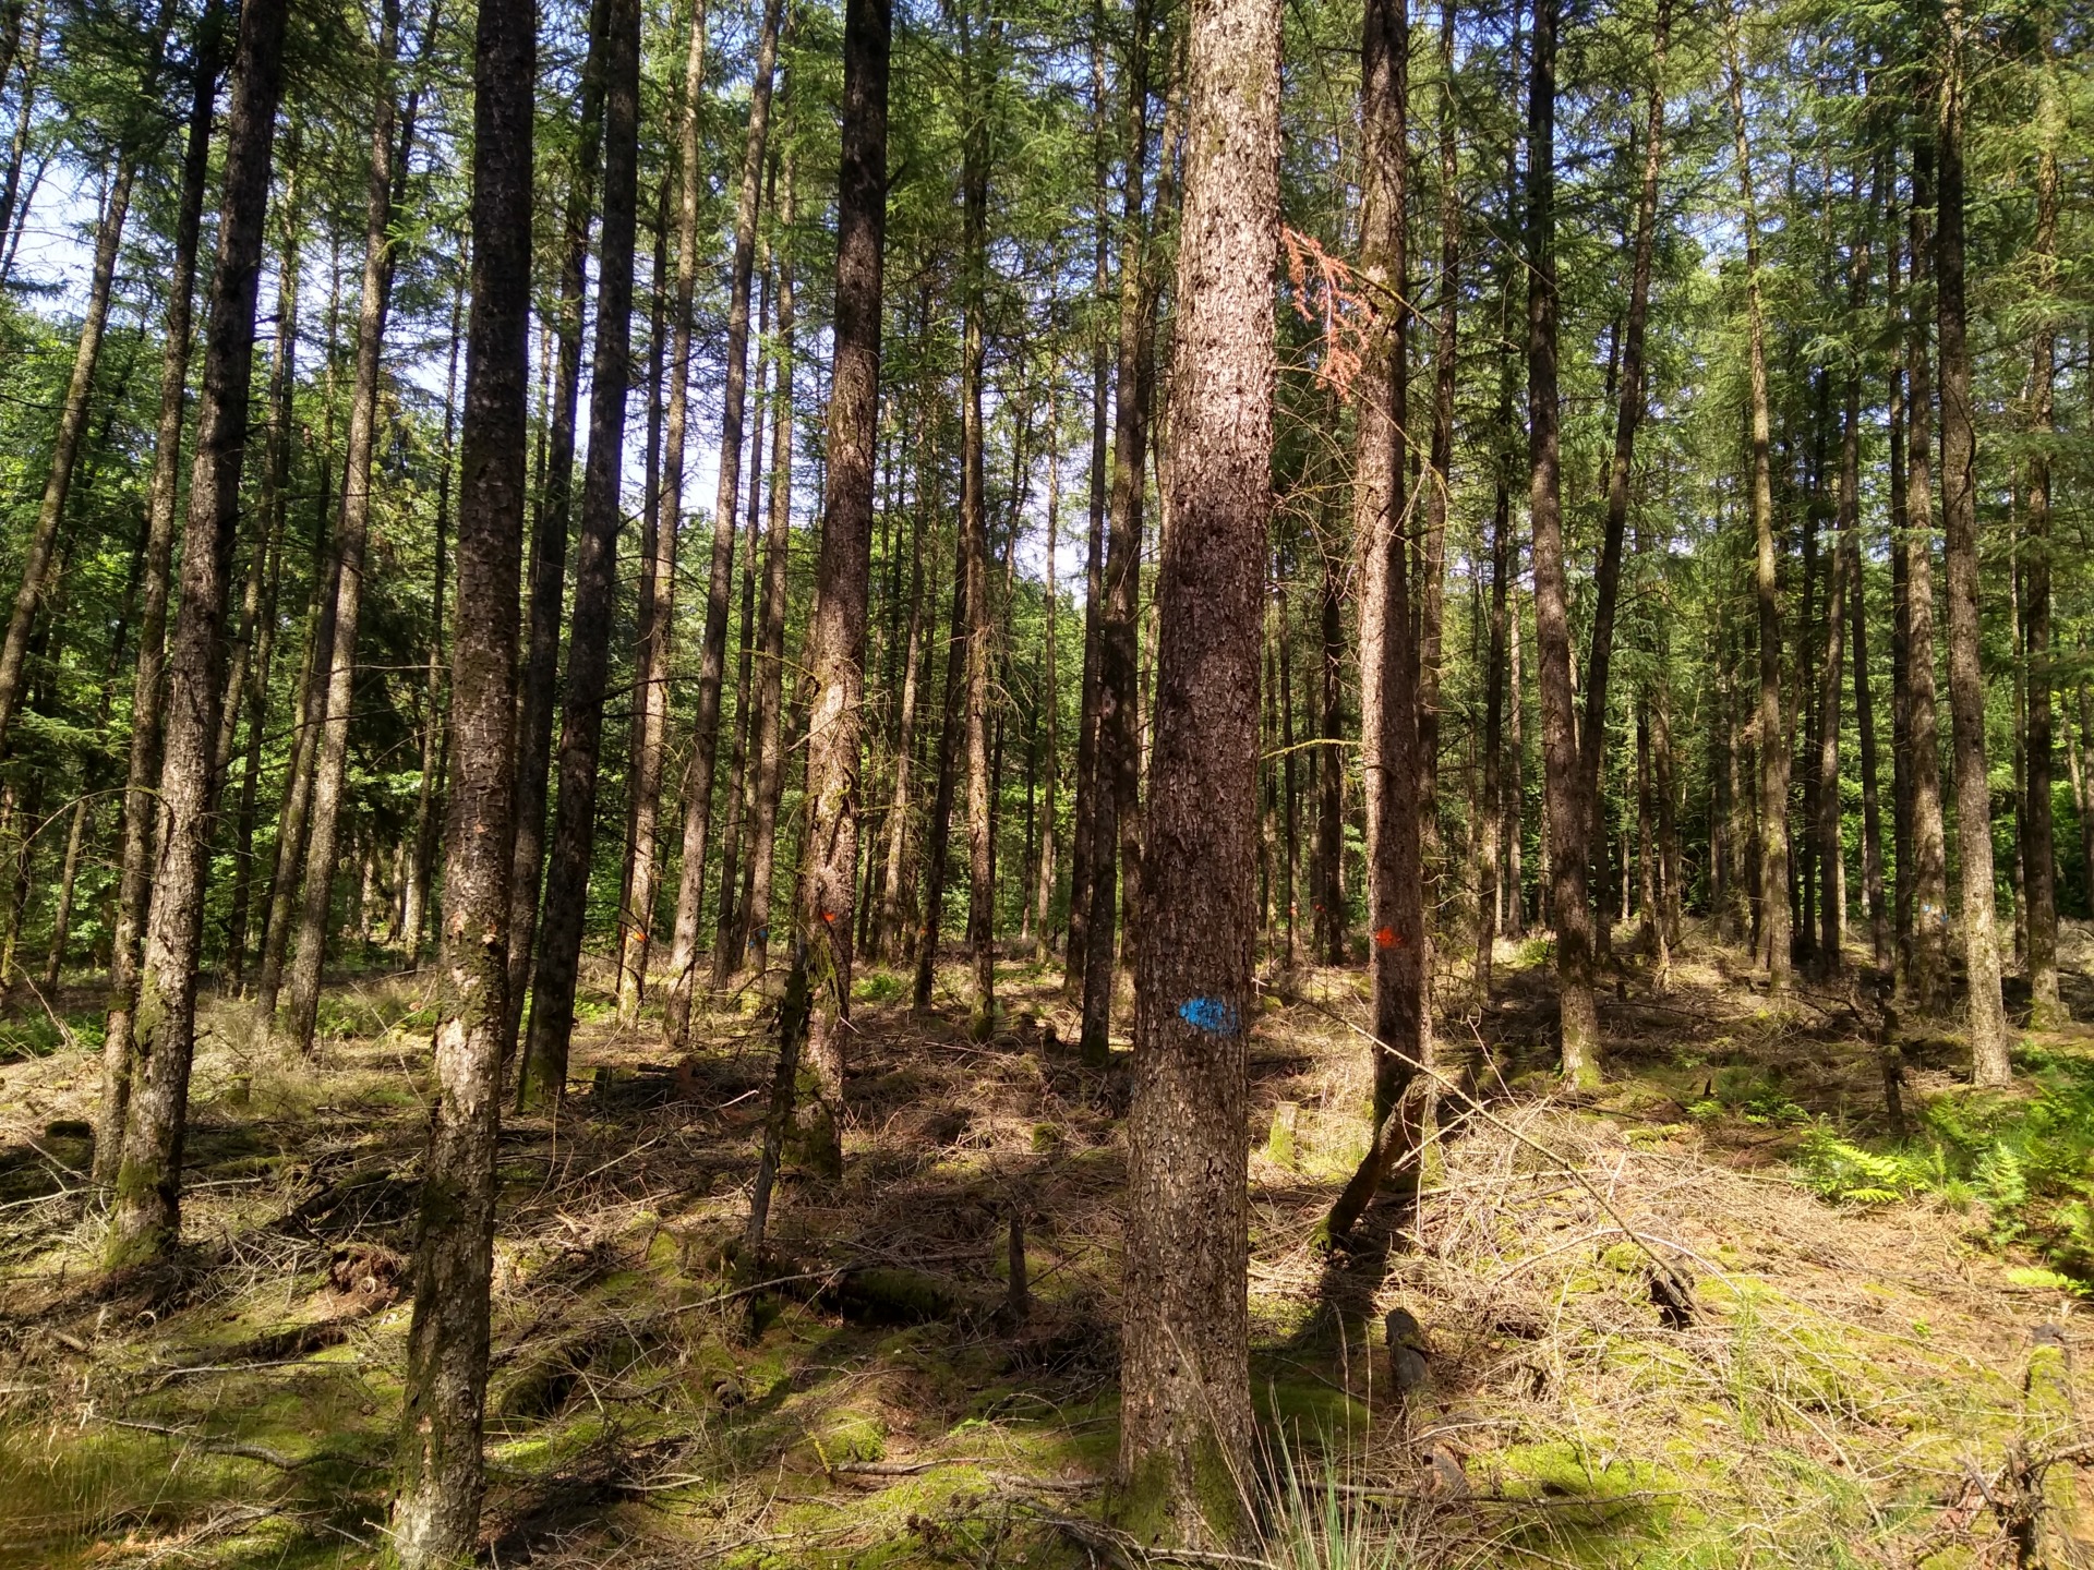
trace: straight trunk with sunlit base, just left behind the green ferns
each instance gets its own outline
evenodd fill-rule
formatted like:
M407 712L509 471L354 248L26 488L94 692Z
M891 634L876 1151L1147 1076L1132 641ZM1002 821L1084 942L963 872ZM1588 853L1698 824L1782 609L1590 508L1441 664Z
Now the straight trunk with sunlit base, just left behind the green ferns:
M1956 758L1956 852L1962 865L1964 973L1970 984L1970 1078L2008 1084L2006 1007L1991 873L1991 783L1985 772L1985 672L1979 668L1977 431L1964 335L1964 10L1943 8L1935 149L1935 320L1941 335L1941 559L1950 597L1950 733Z

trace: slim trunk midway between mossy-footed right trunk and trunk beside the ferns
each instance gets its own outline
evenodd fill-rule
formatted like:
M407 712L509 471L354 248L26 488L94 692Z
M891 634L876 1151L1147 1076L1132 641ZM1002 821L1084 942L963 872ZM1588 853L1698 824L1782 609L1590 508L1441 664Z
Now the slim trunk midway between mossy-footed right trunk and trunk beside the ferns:
M1751 144L1744 136L1744 67L1738 61L1738 40L1730 46L1730 113L1738 153L1738 195L1744 201L1744 312L1751 337L1751 509L1753 509L1753 586L1759 607L1759 720L1755 747L1759 752L1759 955L1767 984L1788 988L1788 745L1782 737L1782 603L1774 555L1774 471L1772 421L1767 417L1767 345L1759 304L1759 193L1753 186Z

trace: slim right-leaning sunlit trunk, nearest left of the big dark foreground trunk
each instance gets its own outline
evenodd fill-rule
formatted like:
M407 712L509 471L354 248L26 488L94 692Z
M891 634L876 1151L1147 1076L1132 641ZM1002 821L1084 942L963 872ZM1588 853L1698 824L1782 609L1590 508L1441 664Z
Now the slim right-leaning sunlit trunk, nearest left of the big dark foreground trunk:
M433 13L431 13L433 25ZM371 540L371 454L379 423L379 368L385 350L385 318L392 308L394 241L392 214L398 176L406 172L415 144L415 111L406 113L400 147L394 147L394 84L400 6L385 0L377 59L379 96L371 124L371 170L364 188L364 276L356 308L356 381L350 389L350 438L341 469L341 523L335 530L335 641L322 649L327 699L318 756L312 775L312 825L306 846L306 890L297 925L297 959L291 965L289 1040L299 1053L312 1051L320 1013L320 973L327 963L329 892L335 879L335 837L341 821L341 791L348 785L350 714L356 708L356 634L364 603L364 553ZM433 40L431 40L433 42Z

